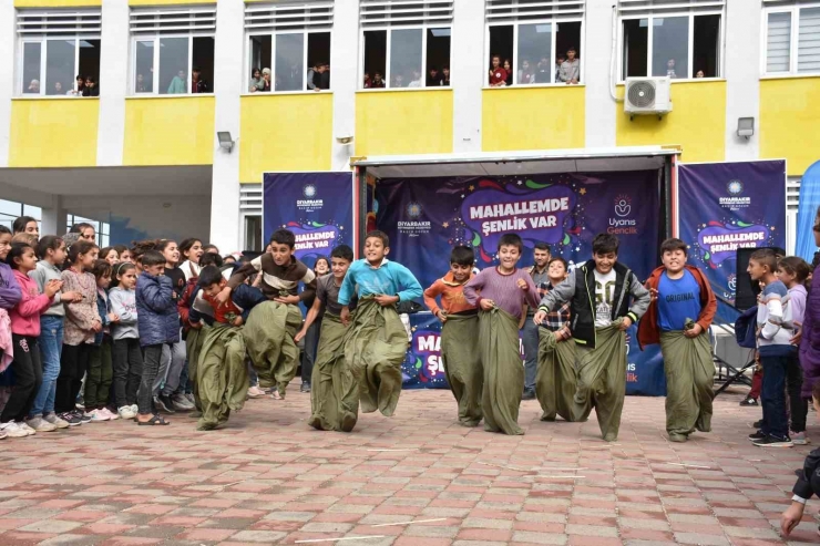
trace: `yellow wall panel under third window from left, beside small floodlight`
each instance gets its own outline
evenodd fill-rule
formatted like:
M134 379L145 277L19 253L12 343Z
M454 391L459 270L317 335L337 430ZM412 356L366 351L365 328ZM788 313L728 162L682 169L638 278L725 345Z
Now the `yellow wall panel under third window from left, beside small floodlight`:
M334 138L331 93L264 93L242 97L239 182L266 171L329 171Z

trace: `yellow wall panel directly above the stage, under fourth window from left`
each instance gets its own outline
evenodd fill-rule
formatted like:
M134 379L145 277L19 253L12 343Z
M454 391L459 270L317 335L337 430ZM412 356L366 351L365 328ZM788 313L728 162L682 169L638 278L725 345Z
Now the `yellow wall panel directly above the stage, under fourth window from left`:
M357 93L353 142L357 156L452 153L452 91Z

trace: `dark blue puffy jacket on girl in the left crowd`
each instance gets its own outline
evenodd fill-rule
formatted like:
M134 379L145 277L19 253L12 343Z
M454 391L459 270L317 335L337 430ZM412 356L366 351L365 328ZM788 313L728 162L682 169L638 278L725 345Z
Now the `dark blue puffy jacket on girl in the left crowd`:
M180 313L172 298L174 288L164 275L146 272L136 279L136 321L142 347L180 341Z

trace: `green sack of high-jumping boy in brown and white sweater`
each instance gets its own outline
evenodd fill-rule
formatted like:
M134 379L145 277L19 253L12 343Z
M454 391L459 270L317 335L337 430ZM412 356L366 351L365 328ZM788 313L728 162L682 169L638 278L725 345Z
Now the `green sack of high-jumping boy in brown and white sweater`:
M299 348L294 336L300 328L299 308L276 301L264 301L254 307L243 328L259 387L274 387L281 398L285 398L287 385L299 367Z

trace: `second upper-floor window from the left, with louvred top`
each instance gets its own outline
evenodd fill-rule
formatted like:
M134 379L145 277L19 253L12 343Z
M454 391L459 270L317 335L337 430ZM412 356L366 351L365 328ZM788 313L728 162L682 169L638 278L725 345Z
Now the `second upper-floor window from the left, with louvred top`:
M132 9L134 94L212 93L216 7Z

